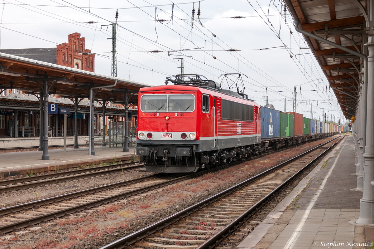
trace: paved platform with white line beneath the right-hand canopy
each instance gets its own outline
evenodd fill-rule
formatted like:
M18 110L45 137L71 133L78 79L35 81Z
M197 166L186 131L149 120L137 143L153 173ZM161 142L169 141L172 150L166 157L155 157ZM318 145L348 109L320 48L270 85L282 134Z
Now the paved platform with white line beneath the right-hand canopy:
M359 225L355 145L345 137L236 249L373 248Z

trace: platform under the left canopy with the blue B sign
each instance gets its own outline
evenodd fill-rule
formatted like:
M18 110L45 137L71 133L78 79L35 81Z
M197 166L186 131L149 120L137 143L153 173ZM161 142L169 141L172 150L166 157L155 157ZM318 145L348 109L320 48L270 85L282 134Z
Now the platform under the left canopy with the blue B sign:
M1 153L0 180L11 176L48 173L49 171L92 164L131 161L134 160L134 148L131 146L129 152L123 152L121 145L118 145L117 148L115 146L111 148L109 146L95 146L95 155L88 155L89 147L67 149L67 152L64 152L64 149L53 149L48 151L50 160L42 160L43 151Z

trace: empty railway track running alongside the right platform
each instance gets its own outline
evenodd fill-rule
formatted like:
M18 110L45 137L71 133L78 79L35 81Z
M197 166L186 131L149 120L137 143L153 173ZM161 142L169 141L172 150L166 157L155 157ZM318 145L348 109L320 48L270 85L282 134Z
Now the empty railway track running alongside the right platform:
M261 222L256 218L262 212L259 210L261 205L300 176L342 138L333 142L335 139L101 249L235 248Z

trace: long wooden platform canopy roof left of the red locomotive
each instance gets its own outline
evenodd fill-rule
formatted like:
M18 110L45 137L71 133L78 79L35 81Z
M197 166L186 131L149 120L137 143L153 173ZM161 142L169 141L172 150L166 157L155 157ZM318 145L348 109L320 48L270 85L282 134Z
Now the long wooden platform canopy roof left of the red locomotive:
M38 94L43 89L43 82L48 81L49 94L61 97L89 97L90 88L114 85L110 88L95 89L95 99L125 103L128 94L129 103L137 103L140 88L150 85L100 75L71 67L31 60L0 53L0 91L18 89L25 93ZM131 96L131 98L129 98Z

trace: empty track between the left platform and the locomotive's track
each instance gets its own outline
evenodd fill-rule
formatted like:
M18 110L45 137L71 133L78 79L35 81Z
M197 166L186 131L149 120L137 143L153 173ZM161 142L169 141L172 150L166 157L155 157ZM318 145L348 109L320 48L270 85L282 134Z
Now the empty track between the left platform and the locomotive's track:
M111 165L98 166L98 167L92 167L92 168L83 168L79 170L69 170L69 171L58 172L58 173L42 174L39 176L28 176L28 177L21 177L21 178L9 179L9 180L2 180L0 181L0 193L5 192L5 191L15 190L15 189L30 188L30 187L34 187L38 185L45 185L45 184L50 184L50 183L63 182L67 180L81 179L83 177L95 176L95 175L115 172L115 171L119 171L123 169L128 170L128 169L141 168L144 166L144 164L126 166L129 164L134 164L134 162L118 163L118 164L111 164ZM126 167L122 167L122 166L126 166ZM69 176L72 174L74 174L74 176ZM57 178L57 177L62 177L62 178Z

